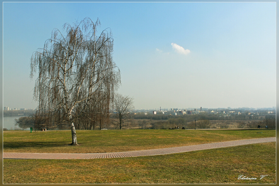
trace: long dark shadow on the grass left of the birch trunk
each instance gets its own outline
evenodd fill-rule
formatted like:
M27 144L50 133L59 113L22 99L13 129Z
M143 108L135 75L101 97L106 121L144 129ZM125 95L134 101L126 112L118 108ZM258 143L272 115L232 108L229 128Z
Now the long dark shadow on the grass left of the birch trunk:
M61 147L69 146L69 142L5 142L3 149L11 148L38 148L38 147Z

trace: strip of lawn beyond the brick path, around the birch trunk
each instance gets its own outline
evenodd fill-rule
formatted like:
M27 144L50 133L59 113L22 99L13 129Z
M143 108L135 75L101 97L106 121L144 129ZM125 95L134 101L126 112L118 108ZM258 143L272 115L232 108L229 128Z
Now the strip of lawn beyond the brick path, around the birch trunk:
M77 130L79 145L70 146L71 131L15 131L3 132L3 152L109 153L275 136L276 130L266 129Z

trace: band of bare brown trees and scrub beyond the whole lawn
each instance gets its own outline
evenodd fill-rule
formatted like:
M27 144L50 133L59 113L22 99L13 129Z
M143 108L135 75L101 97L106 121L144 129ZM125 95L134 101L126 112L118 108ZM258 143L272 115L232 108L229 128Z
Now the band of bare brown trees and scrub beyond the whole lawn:
M97 104L98 103L98 104ZM95 105L94 105L95 104ZM108 114L108 110L105 110L104 107L100 104L100 101L96 103L92 103L92 107L89 107L86 113L80 115L75 118L74 123L75 127L79 130L100 130L102 128L111 129L113 126L113 122L119 120L119 114L111 113ZM94 105L94 107L93 107ZM99 106L98 106L99 105ZM103 111L102 111L103 110ZM143 116L143 117L142 117ZM55 126L55 119L51 119L50 117L20 117L16 123L20 128L30 127L33 125L34 130L39 130L43 126ZM126 121L124 126L137 125L142 129L146 128L175 128L178 126L180 129L182 127L193 129L195 128L195 120L196 120L196 128L229 128L230 126L235 126L236 128L257 128L260 125L262 128L265 128L266 121L268 122L268 128L276 128L276 116L275 115L266 115L262 116L261 119L258 120L250 120L250 119L242 119L242 118L234 118L234 119L220 119L220 117L215 117L213 114L189 114L189 115L181 115L181 116L173 116L173 115L157 115L157 114L148 114L148 115L139 115L133 113L127 113L125 116L128 120ZM144 118L143 121L137 122L137 119ZM267 120L266 120L267 119ZM40 125L43 123L44 125ZM119 124L116 123L118 126ZM123 126L123 125L122 125ZM148 127L147 127L148 126ZM120 127L120 126L119 126ZM126 127L125 127L126 128ZM69 129L69 126L66 122L61 123L59 127L54 129Z

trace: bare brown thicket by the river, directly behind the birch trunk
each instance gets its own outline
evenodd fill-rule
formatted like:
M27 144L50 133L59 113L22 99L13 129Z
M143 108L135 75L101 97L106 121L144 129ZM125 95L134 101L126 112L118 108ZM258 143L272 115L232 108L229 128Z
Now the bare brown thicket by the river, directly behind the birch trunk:
M95 99L90 100L89 107L83 112L82 104L78 104L75 111L78 112L77 117L73 118L74 126L78 130L95 130L106 128L109 121L109 105L110 97L102 95L100 92L96 94ZM73 114L76 114L75 111ZM69 123L64 119L66 113L60 112L51 113L33 113L29 116L20 117L15 120L15 126L20 128L33 127L33 130L40 130L41 128L62 130L70 129Z

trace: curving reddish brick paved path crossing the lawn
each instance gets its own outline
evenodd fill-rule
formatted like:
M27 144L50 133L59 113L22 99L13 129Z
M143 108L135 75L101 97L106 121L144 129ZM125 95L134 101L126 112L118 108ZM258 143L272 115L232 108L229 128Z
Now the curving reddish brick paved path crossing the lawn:
M210 148L232 147L238 145L274 142L276 137L244 139L236 141L225 141L210 144L190 145L184 147L171 147L152 150L140 150L119 153L3 153L3 159L95 159L95 158L117 158L117 157L137 157L153 156L171 153L183 153L195 150Z

